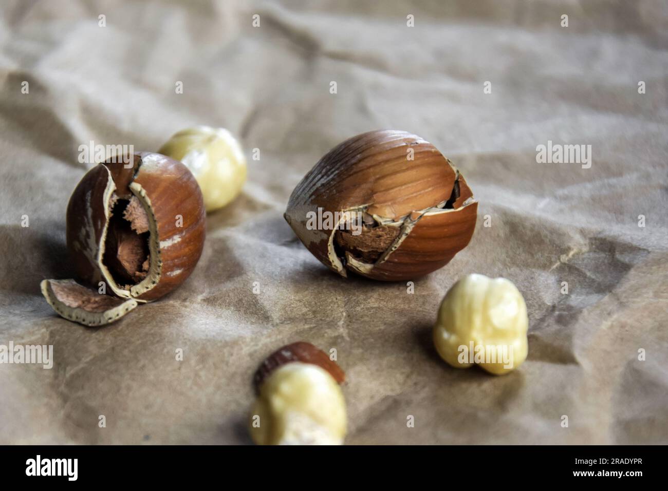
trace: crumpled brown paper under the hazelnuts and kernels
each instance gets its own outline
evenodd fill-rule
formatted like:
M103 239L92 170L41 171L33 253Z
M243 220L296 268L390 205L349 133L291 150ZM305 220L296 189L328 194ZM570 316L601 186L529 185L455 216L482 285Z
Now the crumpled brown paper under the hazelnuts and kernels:
M247 443L253 371L298 340L337 349L347 444L668 442L665 4L15 0L0 22L0 344L54 350L53 369L0 365L0 443ZM156 150L194 124L240 138L249 180L192 277L108 327L57 317L39 282L71 276L79 145ZM378 128L434 143L480 201L468 248L412 294L331 273L282 216L322 154ZM538 164L548 140L591 144L591 168ZM526 299L510 375L432 347L472 272Z

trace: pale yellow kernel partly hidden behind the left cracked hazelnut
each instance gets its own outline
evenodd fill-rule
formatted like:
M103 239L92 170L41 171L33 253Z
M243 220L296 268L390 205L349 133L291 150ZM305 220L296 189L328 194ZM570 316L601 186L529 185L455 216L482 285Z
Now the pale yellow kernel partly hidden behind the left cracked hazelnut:
M224 128L195 126L170 138L158 153L183 162L202 189L206 211L232 201L246 182L246 158Z

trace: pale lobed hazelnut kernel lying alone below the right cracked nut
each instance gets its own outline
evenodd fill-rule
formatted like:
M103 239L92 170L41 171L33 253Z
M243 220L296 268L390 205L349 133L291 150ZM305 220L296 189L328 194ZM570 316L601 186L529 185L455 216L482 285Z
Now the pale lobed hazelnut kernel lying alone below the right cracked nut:
M434 345L453 367L478 364L502 375L526 359L528 324L526 303L511 281L468 275L441 303Z

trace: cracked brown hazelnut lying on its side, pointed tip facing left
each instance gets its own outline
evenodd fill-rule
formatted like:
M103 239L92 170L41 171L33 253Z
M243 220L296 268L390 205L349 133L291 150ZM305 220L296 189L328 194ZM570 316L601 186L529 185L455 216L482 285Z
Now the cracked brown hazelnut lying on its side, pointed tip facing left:
M383 281L446 265L471 240L478 202L450 160L419 136L364 133L297 185L285 219L324 265Z

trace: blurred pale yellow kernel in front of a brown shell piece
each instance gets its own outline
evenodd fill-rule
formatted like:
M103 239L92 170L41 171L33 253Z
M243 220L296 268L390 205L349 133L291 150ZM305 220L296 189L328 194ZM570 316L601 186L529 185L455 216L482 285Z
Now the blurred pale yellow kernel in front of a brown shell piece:
M337 381L325 369L299 362L265 379L249 422L259 445L341 445L346 425Z

